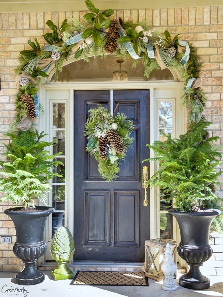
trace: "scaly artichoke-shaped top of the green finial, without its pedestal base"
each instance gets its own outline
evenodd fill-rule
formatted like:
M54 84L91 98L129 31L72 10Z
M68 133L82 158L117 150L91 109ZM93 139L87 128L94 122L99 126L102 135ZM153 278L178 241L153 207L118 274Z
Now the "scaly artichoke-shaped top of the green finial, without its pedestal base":
M66 227L59 227L51 243L51 256L56 262L68 262L74 253L73 236Z

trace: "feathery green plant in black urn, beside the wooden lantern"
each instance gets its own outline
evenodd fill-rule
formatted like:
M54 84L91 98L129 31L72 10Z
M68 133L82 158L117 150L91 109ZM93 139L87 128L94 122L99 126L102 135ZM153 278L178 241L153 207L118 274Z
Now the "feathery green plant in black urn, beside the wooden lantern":
M179 139L166 135L166 141L148 145L155 157L147 161L157 161L160 166L147 184L159 187L163 200L174 207L169 213L177 219L180 228L178 254L190 266L179 282L181 286L195 290L210 287L210 280L201 274L200 266L212 255L208 243L210 226L221 214L214 187L219 184L220 172L216 167L221 163L221 154L219 147L213 145L219 138L207 137L210 124L201 120L192 124ZM214 226L222 228L222 216Z

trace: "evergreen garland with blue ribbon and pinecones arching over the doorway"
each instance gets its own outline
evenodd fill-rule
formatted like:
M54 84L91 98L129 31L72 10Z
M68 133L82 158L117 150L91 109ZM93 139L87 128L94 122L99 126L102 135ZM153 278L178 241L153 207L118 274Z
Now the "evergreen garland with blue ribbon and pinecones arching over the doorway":
M201 63L192 44L178 40L177 34L171 37L168 31L160 34L145 23L123 22L109 19L114 10L100 12L90 0L86 0L90 12L84 15L86 25L75 18L65 19L60 26L48 20L50 32L43 35L48 45L40 47L37 38L29 40L30 50L21 51L19 66L15 69L16 114L11 129L33 129L33 120L39 117L42 106L38 99L38 86L41 78L47 77L52 63L55 63L55 76L62 71L64 61L70 56L75 60L89 62L89 54L101 58L114 54L117 58L133 58L133 67L141 59L148 78L153 69L174 68L184 80L182 104L190 109L190 123L202 118L206 96L202 90L202 78L199 76ZM26 100L21 100L26 96ZM32 101L34 104L32 104ZM30 116L31 115L31 116Z

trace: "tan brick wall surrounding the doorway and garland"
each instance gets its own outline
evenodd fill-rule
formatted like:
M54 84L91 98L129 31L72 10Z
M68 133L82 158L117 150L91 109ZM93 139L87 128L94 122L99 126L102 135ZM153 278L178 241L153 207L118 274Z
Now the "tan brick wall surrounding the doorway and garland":
M18 65L16 57L23 49L28 49L27 40L37 37L41 44L44 40L42 34L47 31L45 22L48 19L56 25L62 23L64 18L72 14L79 18L85 12L24 12L0 13L0 153L4 152L2 141L3 132L14 116L15 74L13 68ZM161 32L169 30L172 34L180 33L179 38L189 40L197 47L203 62L202 77L203 88L208 96L204 111L206 119L212 122L210 134L220 136L219 143L223 144L223 6L219 7L185 7L169 9L140 9L117 10L111 18L123 17L124 20L138 22L146 19L148 25L155 26ZM223 183L223 175L220 177ZM223 186L219 187L217 194L223 198ZM19 271L22 269L21 261L12 253L15 242L15 229L9 217L3 214L7 204L0 203L0 235L11 235L12 244L0 244L0 270ZM213 274L223 275L222 238L215 238L215 254L212 265L208 266ZM218 244L220 243L220 244ZM216 265L213 263L215 261ZM209 269L208 269L209 271Z

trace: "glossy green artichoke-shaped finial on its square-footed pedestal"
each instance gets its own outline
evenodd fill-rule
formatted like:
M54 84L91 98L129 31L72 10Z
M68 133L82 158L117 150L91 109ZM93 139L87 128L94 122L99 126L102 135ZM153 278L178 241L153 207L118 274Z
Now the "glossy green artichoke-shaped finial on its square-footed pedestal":
M75 247L73 236L66 227L59 227L54 233L51 244L51 256L58 263L58 268L51 271L54 280L71 279L73 272L67 268Z

